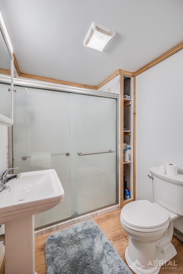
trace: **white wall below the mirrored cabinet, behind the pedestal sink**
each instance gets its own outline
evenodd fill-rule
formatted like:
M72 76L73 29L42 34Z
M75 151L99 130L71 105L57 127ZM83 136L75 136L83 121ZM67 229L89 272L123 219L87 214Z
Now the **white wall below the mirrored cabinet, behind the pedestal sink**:
M7 126L0 125L0 171L7 168ZM4 225L0 227L0 234L4 232ZM4 245L0 242L0 260L3 254Z

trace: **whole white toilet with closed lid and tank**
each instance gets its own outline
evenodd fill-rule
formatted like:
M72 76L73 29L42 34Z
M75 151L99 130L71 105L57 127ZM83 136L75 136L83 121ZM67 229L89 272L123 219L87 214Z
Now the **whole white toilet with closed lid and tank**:
M158 274L160 267L176 254L171 243L173 220L183 215L183 175L163 175L150 168L153 198L126 204L121 211L121 225L130 236L125 259L137 274Z

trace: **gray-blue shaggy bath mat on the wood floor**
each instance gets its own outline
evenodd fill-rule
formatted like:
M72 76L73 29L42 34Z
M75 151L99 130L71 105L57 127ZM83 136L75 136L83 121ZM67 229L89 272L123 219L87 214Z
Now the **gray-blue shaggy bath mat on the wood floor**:
M50 235L45 258L47 274L132 274L92 220Z

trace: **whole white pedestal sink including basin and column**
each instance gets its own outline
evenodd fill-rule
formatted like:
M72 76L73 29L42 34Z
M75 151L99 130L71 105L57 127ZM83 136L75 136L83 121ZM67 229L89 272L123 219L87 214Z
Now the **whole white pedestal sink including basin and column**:
M0 224L5 224L5 274L35 274L33 215L64 197L55 170L21 173L0 192ZM39 273L38 273L39 274Z

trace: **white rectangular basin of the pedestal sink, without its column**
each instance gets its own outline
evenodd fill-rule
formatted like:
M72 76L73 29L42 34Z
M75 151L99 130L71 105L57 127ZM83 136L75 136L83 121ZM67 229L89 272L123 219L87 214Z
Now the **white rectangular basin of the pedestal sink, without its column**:
M0 225L24 214L46 211L63 200L64 190L55 170L20 174L0 192Z

